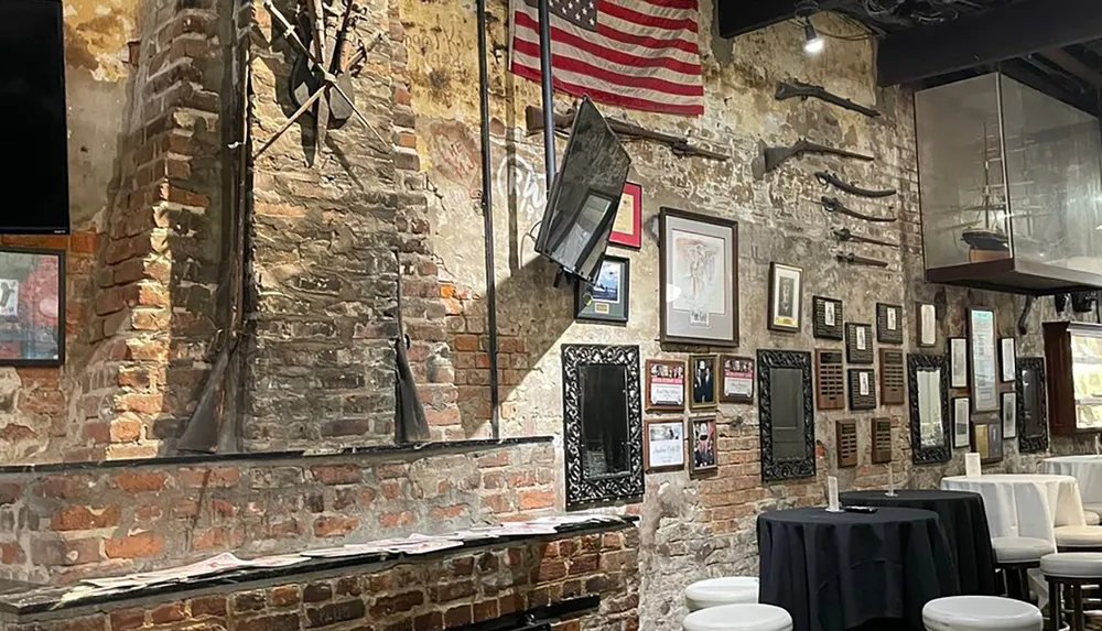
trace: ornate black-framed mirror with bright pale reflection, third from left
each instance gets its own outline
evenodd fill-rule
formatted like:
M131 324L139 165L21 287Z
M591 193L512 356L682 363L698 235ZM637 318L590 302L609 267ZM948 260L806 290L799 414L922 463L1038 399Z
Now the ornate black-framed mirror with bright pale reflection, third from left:
M910 394L911 461L947 463L949 444L949 367L943 355L907 356Z

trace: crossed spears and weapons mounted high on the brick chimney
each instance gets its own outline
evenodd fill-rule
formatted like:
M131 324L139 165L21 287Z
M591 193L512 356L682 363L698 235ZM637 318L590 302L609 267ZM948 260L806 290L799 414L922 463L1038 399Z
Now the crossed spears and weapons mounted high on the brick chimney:
M344 63L344 46L348 39L348 32L352 30L354 24L354 18L356 15L356 3L349 0L348 7L345 9L344 18L341 23L341 29L336 33L333 46L329 48L325 41L325 8L322 4L322 0L305 0L306 11L310 15L310 22L313 29L313 36L311 37L311 45L307 46L302 37L299 36L299 31L291 24L290 21L283 15L282 12L272 3L272 0L264 0L264 9L272 14L272 18L279 23L279 26L283 30L283 36L299 50L299 53L303 55L307 68L312 68L310 72L313 73L314 78L317 81L317 88L305 99L299 109L291 115L283 127L279 129L271 138L264 142L256 154L253 154L253 160L259 157L264 151L268 150L277 140L283 135L287 130L291 129L291 126L299 120L302 115L306 113L311 108L314 108L314 120L317 127L317 149L321 150L322 143L325 142L325 132L329 124L329 113L334 112L338 118L348 118L346 111L352 110L359 118L360 122L367 127L368 130L375 134L380 142L386 143L379 132L367 121L367 118L359 111L356 104L353 101L348 93L352 90L352 81L347 80L347 72L360 63L367 57L367 54L375 45L379 43L381 35L371 42L370 48L365 48L360 44L359 52L356 53L347 63ZM328 59L328 63L323 63L324 59ZM309 84L306 84L309 85ZM339 99L333 99L331 93L335 90L341 97ZM346 91L347 90L347 91Z

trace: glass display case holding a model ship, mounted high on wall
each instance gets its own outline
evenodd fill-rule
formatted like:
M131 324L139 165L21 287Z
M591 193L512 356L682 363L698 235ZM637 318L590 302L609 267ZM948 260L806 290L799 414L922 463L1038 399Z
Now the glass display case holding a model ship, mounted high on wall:
M915 107L927 280L1102 287L1098 118L1000 73L921 90Z

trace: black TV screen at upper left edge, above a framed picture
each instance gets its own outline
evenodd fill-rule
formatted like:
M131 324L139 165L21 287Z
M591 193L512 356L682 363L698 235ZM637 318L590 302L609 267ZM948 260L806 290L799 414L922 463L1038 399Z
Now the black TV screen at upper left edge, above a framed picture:
M0 0L0 233L68 233L58 0Z

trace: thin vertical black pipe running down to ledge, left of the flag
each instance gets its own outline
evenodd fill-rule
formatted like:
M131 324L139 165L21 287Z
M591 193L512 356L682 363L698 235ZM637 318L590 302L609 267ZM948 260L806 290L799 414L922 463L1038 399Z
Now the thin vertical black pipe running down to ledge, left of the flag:
M545 3L545 0L544 0ZM483 231L486 237L486 327L489 341L489 426L494 438L500 437L500 395L497 383L497 276L494 263L494 181L489 142L489 69L486 67L486 0L478 0L478 88L482 96L482 154L483 154ZM553 146L553 145L552 145Z

